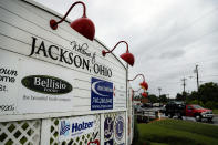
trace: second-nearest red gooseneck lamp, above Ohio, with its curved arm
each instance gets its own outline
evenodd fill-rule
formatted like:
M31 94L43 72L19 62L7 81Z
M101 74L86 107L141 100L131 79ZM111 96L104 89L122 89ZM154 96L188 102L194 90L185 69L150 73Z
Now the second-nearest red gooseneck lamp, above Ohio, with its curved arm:
M111 50L111 51L105 51L105 50L103 50L102 51L102 55L103 56L105 56L106 55L106 53L112 53L112 51L120 44L120 43L125 43L126 44L126 48L127 48L127 50L126 50L126 53L123 53L122 55L121 55L121 58L125 61L125 62L127 62L129 65L134 65L134 62L135 62L135 59L134 59L134 55L132 54L132 53L129 53L129 51L128 51L128 43L126 42L126 41L120 41L118 43L116 43L116 45Z

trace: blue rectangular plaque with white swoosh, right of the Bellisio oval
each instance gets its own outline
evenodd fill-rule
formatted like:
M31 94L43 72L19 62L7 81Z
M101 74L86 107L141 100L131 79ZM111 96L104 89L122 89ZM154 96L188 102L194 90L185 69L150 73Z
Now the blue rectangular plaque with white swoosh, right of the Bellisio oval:
M91 110L113 110L113 83L92 77Z

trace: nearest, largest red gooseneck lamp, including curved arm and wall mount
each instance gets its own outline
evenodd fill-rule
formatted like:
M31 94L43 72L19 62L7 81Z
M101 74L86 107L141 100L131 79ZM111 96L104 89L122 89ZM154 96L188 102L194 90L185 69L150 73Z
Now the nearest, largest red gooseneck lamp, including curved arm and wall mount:
M72 10L72 8L75 4L79 4L79 3L81 3L83 6L83 17L76 19L73 22L71 22L71 28L74 29L75 31L77 31L83 37L85 37L89 40L93 41L94 35L95 35L95 27L94 27L94 23L86 17L86 8L85 8L85 4L82 1L77 1L77 2L73 3L71 6L71 8L69 9L69 11L65 13L65 15L59 22L56 22L53 19L50 20L50 27L53 30L56 30L58 29L58 24L63 22L65 20L65 18L68 17L68 14L70 13L70 11Z

